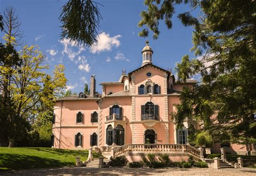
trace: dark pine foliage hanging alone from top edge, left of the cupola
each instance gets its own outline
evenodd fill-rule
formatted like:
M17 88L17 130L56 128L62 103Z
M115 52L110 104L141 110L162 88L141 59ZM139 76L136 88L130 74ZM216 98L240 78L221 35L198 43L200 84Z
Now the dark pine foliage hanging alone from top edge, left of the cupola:
M97 30L102 19L98 5L91 0L69 0L59 17L62 39L68 38L89 47L97 43Z

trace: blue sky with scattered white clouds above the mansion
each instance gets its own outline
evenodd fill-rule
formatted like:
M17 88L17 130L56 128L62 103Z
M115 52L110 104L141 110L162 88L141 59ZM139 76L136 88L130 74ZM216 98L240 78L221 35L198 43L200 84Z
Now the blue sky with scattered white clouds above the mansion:
M96 1L100 6L103 20L99 29L99 43L92 48L77 47L69 43L68 39L60 40L60 22L58 17L62 0L0 0L0 12L3 14L6 6L13 6L22 22L24 43L38 45L48 57L48 64L52 71L55 65L65 66L65 75L69 80L67 88L72 91L83 91L84 83L90 85L90 76L96 75L96 91L101 92L100 82L118 81L122 69L126 73L137 69L142 64L142 48L146 38L138 37L141 30L137 24L139 13L146 9L143 1ZM178 13L188 11L188 5L177 5L173 16L173 27L167 30L160 22L160 36L153 40L152 33L148 37L154 54L153 64L164 69L174 67L183 55L189 54L192 47L192 27L184 27L177 18ZM2 38L3 33L0 33Z

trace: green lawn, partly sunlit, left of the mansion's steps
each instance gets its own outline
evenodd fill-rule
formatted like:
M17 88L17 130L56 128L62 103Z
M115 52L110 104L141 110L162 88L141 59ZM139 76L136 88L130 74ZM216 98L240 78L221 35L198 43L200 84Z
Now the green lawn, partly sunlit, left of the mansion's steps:
M75 157L85 161L88 150L64 150L44 147L0 147L0 172L30 168L75 166ZM93 153L98 158L100 154Z

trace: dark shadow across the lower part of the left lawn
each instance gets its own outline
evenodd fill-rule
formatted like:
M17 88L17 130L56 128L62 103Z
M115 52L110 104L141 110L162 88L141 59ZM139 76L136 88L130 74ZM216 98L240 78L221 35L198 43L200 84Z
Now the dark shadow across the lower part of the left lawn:
M50 158L26 156L25 154L1 154L0 172L9 170L25 170L29 168L74 166L73 162L59 161Z

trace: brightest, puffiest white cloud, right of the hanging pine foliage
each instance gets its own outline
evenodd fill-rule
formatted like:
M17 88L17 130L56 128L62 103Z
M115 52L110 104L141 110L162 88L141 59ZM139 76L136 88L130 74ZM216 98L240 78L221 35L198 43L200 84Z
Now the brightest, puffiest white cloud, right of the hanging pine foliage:
M90 48L90 52L95 54L103 51L111 51L112 47L118 47L120 45L120 41L118 40L120 37L120 35L110 37L110 34L102 32L97 37L98 43Z

